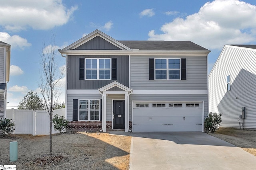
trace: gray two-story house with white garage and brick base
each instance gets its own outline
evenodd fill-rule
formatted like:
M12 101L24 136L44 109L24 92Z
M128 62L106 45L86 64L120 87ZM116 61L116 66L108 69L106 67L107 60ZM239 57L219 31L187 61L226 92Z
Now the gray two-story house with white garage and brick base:
M66 57L67 131L204 131L210 51L191 41L117 41L95 30Z

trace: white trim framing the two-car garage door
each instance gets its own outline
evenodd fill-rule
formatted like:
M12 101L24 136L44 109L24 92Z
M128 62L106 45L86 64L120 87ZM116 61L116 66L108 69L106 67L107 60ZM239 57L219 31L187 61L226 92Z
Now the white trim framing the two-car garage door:
M133 122L133 108L134 108L134 104L136 102L200 102L202 103L202 132L204 132L204 101L203 100L183 100L183 101L177 101L177 100L163 100L163 101L153 101L153 100L132 100L132 122ZM133 123L132 123L132 129L134 129L133 127Z

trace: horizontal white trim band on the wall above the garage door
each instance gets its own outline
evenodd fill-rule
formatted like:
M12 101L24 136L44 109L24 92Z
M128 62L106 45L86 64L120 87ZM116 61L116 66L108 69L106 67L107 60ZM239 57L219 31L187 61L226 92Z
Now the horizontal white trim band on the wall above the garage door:
M132 94L208 94L208 90L133 90Z

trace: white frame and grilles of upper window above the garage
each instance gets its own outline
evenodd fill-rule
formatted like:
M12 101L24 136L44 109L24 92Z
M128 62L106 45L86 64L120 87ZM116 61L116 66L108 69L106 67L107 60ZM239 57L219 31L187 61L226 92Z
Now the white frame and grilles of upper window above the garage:
M156 60L166 60L166 68L156 69ZM178 59L180 61L180 68L171 68L169 69L169 61ZM166 70L166 79L156 79L156 70ZM179 79L169 79L169 70L180 70L180 78ZM181 80L181 58L154 58L154 80Z

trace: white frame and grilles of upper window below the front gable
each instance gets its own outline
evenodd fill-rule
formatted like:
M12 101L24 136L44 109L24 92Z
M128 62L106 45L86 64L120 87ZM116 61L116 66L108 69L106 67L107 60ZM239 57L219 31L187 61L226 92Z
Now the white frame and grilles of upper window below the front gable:
M86 60L87 59L97 59L97 68L88 68L86 69ZM109 59L110 60L110 68L102 69L100 68L100 59ZM86 70L97 70L97 79L86 79ZM99 70L110 70L110 78L109 79L100 79L100 71ZM84 58L84 80L112 80L112 58Z

